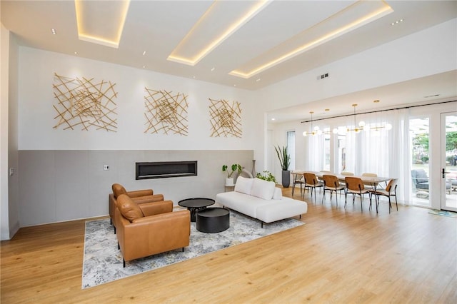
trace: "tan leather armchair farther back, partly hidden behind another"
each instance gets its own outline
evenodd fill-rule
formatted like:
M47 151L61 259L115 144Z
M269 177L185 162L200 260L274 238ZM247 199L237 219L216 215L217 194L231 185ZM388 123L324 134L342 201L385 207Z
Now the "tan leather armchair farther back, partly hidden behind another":
M152 189L126 191L126 188L119 183L114 183L111 186L113 193L109 194L109 217L111 224L114 226L114 233L116 233L116 221L114 220L114 211L116 210L116 200L121 194L126 194L136 203L151 203L156 201L164 201L163 194L154 194Z

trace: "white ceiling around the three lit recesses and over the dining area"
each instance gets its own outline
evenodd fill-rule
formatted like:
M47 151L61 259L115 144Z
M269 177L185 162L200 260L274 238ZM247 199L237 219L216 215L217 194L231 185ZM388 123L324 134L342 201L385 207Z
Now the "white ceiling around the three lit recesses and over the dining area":
M457 1L387 1L393 9L391 14L315 46L251 78L229 74L266 51L286 47L284 41L289 41L291 37L316 26L355 2L271 1L194 66L169 61L167 58L213 1L132 0L119 49L78 39L74 1L1 0L0 5L1 23L17 35L21 45L249 90L263 88L457 16ZM227 2L223 11L229 15L231 9L234 11L246 3L252 2ZM105 4L109 6L110 1ZM224 15L220 16L221 22ZM399 19L405 21L396 26L390 25ZM104 20L103 13L100 14L100 20ZM51 29L56 30L56 35L51 33ZM338 51L333 51L336 49ZM343 103L342 98L353 101L356 98L371 100L373 96L398 96L406 103L426 102L426 99L418 100L418 96L423 98L434 93L455 96L456 79L454 71L358 92L351 96L338 96L338 102L333 99L326 102L329 105L335 104L332 106L334 114L348 111L347 108L338 109L338 103ZM412 87L415 89L409 89ZM417 88L421 88L420 94ZM398 98L390 100L397 101ZM395 101L392 104L396 104ZM389 104L383 103L380 106L388 107ZM371 108L375 107L373 105ZM275 116L277 121L303 119L309 115L308 111L300 107L286 108L270 113L270 116Z

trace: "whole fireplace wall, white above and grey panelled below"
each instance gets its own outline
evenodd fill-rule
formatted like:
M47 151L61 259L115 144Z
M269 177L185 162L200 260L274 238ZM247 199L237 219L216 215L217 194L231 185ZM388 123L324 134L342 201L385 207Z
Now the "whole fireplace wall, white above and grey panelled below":
M116 83L116 132L53 127L54 73ZM189 136L144 133L144 88L184 93ZM103 216L112 183L153 188L174 203L224 191L223 164L251 171L263 146L252 91L19 47L19 212L21 226ZM209 98L241 103L241 138L211 137ZM260 155L260 154L258 154ZM136 161L199 161L199 175L135 181ZM110 171L102 171L104 164Z

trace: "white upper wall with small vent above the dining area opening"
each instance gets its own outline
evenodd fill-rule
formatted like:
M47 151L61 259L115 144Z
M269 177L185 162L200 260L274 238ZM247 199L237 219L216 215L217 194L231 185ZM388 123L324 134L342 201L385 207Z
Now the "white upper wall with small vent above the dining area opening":
M258 91L266 111L452 71L457 19L368 49ZM331 77L318 81L328 71Z

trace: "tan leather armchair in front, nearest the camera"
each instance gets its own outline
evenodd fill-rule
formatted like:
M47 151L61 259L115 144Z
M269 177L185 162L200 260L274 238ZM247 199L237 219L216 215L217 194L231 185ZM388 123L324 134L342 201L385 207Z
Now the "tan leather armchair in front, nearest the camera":
M191 213L173 212L172 201L137 204L129 196L117 198L115 218L119 248L126 261L189 246Z

